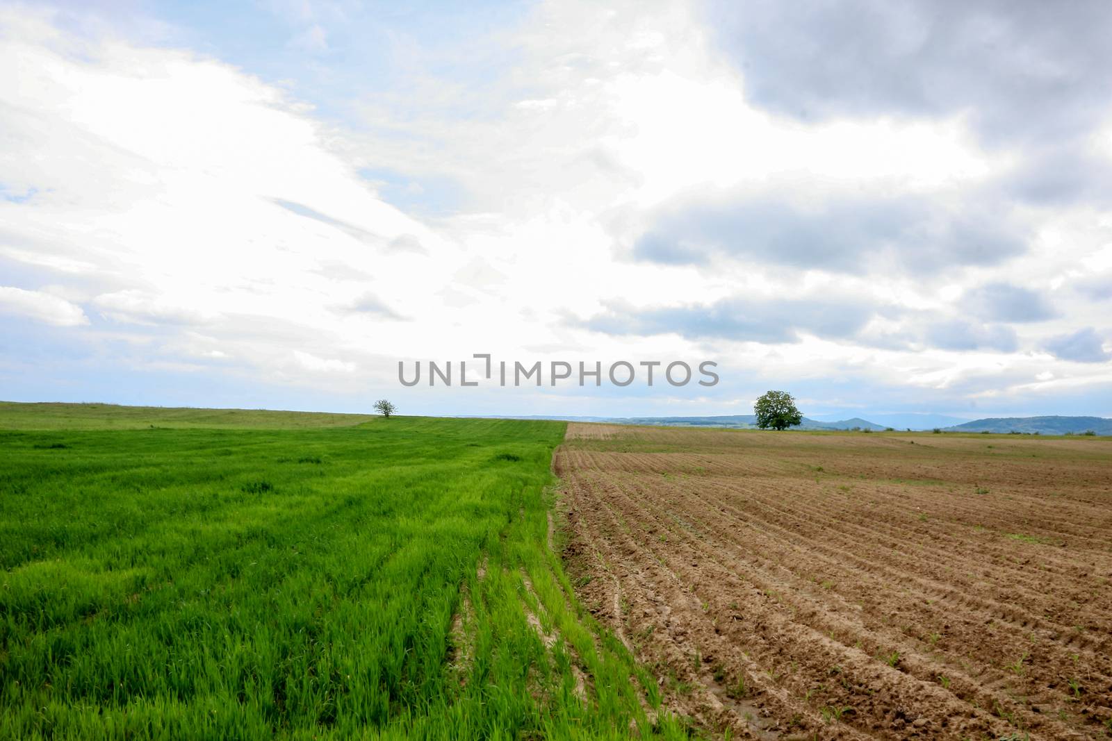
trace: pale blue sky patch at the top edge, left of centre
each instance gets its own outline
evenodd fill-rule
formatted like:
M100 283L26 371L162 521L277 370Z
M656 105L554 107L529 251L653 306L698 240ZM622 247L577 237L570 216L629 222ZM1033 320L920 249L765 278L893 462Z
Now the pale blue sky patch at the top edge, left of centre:
M404 92L413 76L481 84L504 72L517 52L483 40L520 23L535 4L149 0L145 8L168 24L169 46L286 86L319 116L357 127L361 99Z

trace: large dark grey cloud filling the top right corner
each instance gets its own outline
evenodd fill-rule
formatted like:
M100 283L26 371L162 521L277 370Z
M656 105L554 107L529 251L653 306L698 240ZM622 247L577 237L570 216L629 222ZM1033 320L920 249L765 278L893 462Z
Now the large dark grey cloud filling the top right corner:
M1112 111L1106 0L708 0L717 47L755 106L804 121L967 116L1022 151L1000 183L1049 204L1110 199L1092 132Z

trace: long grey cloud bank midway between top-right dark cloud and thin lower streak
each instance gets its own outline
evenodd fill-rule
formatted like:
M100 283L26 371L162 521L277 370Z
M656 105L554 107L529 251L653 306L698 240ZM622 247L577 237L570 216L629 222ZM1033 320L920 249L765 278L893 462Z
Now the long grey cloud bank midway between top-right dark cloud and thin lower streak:
M777 196L695 193L649 217L633 257L669 264L727 257L851 273L895 263L935 272L1023 252L1003 212L972 197L955 211L912 197L843 196L801 209Z

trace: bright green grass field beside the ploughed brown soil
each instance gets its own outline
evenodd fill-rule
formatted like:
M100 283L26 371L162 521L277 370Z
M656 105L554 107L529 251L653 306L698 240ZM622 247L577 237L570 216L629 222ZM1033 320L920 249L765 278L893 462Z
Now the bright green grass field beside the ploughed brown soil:
M684 734L548 547L563 434L0 404L0 738Z

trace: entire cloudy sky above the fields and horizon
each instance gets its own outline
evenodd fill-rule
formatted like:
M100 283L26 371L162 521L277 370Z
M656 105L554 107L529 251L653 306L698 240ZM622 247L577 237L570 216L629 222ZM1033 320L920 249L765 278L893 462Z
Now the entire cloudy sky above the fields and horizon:
M0 2L0 399L1112 417L1110 24L1101 0ZM476 353L543 385L459 385ZM718 382L645 382L677 361Z

